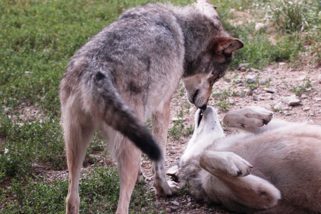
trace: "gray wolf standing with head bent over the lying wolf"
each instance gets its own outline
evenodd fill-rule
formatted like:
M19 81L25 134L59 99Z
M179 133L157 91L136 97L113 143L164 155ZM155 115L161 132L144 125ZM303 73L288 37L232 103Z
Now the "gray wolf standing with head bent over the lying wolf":
M135 182L142 179L139 149L154 160L156 194L175 193L178 187L165 171L171 98L183 79L188 100L206 108L213 84L242 47L213 7L147 4L126 11L80 48L60 85L69 169L66 213L79 212L81 165L96 130L118 163L116 213L128 212ZM150 116L153 137L144 127Z

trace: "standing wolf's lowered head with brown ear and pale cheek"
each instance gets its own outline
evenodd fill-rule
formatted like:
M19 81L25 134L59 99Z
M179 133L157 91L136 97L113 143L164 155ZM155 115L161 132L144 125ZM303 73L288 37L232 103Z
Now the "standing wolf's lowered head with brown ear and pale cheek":
M183 78L189 102L197 108L206 108L214 83L224 76L233 52L243 46L240 40L231 37L213 40L207 53L190 65L194 75Z

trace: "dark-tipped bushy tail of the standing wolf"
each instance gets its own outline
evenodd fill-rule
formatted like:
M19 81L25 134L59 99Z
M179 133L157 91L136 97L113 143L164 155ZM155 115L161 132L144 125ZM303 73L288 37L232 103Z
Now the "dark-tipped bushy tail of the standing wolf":
M161 150L142 121L120 96L109 76L104 71L94 72L90 72L93 75L88 77L85 87L87 91L84 91L91 108L98 111L108 125L128 137L148 157L159 160Z

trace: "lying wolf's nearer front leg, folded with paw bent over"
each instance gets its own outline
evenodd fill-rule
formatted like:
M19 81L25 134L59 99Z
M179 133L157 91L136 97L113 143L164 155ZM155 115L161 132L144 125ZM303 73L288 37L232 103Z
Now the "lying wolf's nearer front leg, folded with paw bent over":
M226 195L220 197L223 203L229 201L226 206L242 204L260 210L275 206L281 198L280 191L273 184L249 174L251 164L233 152L205 151L201 154L200 165L224 183L226 190L222 192Z

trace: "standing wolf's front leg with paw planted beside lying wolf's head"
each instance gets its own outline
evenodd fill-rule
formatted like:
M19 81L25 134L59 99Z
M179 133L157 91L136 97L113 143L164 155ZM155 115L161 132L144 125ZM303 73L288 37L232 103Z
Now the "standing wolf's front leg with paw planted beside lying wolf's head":
M165 171L165 151L167 131L170 123L170 101L160 106L152 114L152 134L162 150L162 158L152 163L152 174L154 177L154 188L156 195L170 196L179 189L175 182L168 182Z

